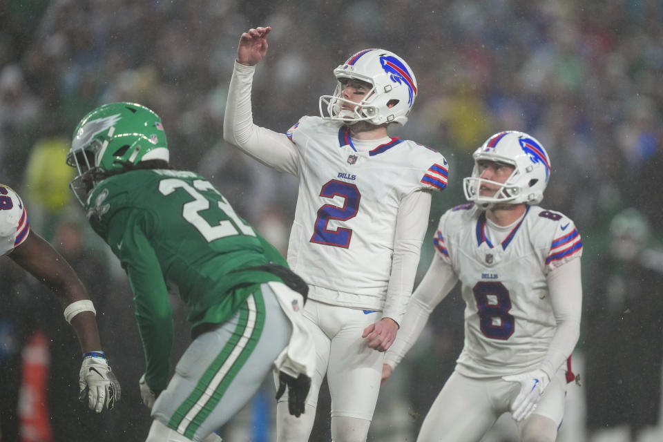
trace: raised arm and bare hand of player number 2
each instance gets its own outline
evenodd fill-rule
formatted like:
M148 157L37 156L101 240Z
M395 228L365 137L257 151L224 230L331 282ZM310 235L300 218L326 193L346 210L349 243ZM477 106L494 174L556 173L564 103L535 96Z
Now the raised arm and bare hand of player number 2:
M256 70L255 65L267 53L267 34L270 30L269 27L251 29L240 37L228 90L223 137L262 164L296 175L296 148L285 133L270 131L253 124L253 73Z

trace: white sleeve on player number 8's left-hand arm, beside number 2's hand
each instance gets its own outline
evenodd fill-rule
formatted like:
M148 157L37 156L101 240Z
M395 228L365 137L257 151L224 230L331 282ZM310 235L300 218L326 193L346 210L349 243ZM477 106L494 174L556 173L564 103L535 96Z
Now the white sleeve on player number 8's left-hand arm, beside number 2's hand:
M385 355L385 364L389 364L392 369L396 368L421 335L433 309L449 294L457 281L458 277L452 267L435 253L407 305L401 329Z

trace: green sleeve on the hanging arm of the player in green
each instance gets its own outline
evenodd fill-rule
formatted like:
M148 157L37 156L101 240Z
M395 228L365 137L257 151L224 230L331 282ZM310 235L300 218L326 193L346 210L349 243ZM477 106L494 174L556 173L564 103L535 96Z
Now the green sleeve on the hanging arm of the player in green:
M145 354L145 381L155 392L168 385L173 346L173 309L154 248L142 230L142 217L115 215L109 244L121 244L117 256L128 276Z

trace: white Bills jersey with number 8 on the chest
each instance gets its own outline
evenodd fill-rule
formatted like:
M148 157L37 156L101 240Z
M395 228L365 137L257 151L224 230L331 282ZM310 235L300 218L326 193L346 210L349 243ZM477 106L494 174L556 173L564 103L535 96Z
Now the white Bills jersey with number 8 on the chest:
M486 236L486 214L474 204L447 211L434 236L465 300L465 344L457 371L473 378L539 367L556 323L547 274L582 255L575 224L559 212L528 206L501 244Z

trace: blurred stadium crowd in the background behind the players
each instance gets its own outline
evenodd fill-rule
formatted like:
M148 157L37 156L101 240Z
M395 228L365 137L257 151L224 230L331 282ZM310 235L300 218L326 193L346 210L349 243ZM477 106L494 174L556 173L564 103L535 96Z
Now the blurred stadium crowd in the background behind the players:
M636 213L640 224L628 224L624 235L637 233L640 249L655 251L663 227L663 1L6 0L0 2L0 182L23 196L32 229L55 244L88 285L123 399L118 410L104 416L76 406L73 331L50 294L3 259L2 441L12 440L11 431L37 416L39 392L26 398L26 366L35 361L50 367L40 409L48 425L37 423L32 430L50 439L21 440L83 441L75 434L94 430L100 442L142 441L147 433L148 411L137 391L144 363L131 294L68 190L73 171L64 159L72 131L95 106L130 101L159 113L171 162L209 177L238 213L285 253L296 180L238 153L221 135L238 39L259 25L273 31L269 54L256 73L253 117L277 131L285 132L301 115L317 115L318 97L335 86L332 69L354 52L383 47L410 64L420 93L407 126L394 135L431 146L450 160L449 188L434 198L431 229L445 209L463 202L461 180L471 171L470 153L483 140L503 129L537 137L553 169L542 205L570 216L583 238L584 327L597 321L602 330L617 329L619 336L633 339L624 346L642 340L642 349L613 356L614 363L628 360L636 384L650 374L660 378L660 255L649 253L638 267L651 271L651 285L645 290L640 284L646 296L638 298L640 291L628 285L612 285L616 294L604 302L608 289L597 287L617 273L635 278L636 286L644 281L640 273L637 278L628 273L630 267L606 267L602 260L614 251L615 215L635 209L629 213ZM425 245L422 272L431 255L432 247ZM596 274L605 277L596 281ZM381 398L375 440L414 440L416 425L462 346L461 302L450 296L436 310L420 351ZM184 346L189 334L180 316ZM643 321L657 321L656 327L645 329ZM35 338L39 330L45 341ZM592 336L581 337L580 356L598 348L621 354L623 346L606 343L605 335L590 342ZM639 352L648 353L648 370ZM602 358L601 352L592 358ZM564 440L583 441L621 424L637 429L657 424L660 382L648 407L651 416L625 411L602 417L601 401L592 402L587 393L598 391L591 385L606 372L611 370L582 373L582 397L596 403L590 407L595 411L583 412L587 419ZM265 390L271 396L269 387ZM636 400L627 396L625 408ZM17 397L20 418L12 408ZM272 405L253 407L255 425L269 427ZM251 421L245 425L251 427ZM269 440L251 431L251 440ZM500 437L495 440L511 440Z

